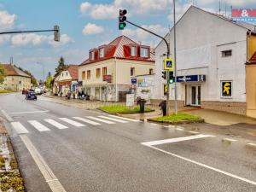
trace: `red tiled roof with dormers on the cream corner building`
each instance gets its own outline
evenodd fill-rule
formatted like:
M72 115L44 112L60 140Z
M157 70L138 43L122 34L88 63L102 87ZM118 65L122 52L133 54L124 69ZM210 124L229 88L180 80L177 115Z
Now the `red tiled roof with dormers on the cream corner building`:
M124 35L119 36L118 38L115 38L112 42L106 45L102 45L100 47L105 48L105 55L102 58L96 58L94 61L90 61L89 59L85 60L80 64L80 66L90 64L92 62L96 61L103 61L107 60L110 58L118 58L118 59L129 59L129 60L137 60L137 61L154 61L154 53L149 49L150 56L149 58L144 58L140 56L136 57L131 57L127 55L127 50L125 51L125 46L130 46L130 45L136 45L137 47L144 46L141 44L137 44L135 41L131 40L131 38L127 38ZM149 46L146 46L149 47ZM98 54L96 54L98 55ZM97 56L96 56L97 57Z

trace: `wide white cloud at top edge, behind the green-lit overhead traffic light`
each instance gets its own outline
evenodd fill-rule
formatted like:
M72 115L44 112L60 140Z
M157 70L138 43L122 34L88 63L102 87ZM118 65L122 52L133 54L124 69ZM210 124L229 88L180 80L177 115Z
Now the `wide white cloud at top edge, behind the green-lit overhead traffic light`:
M129 15L153 14L168 7L168 0L114 0L113 3L88 3L80 5L82 15L89 12L96 20L114 19L119 15L119 9L129 10Z

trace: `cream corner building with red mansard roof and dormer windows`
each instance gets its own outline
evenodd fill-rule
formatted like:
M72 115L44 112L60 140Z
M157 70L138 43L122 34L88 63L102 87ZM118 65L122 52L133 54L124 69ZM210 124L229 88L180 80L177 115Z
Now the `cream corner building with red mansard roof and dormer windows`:
M131 77L154 72L154 53L149 46L120 36L110 44L90 49L79 65L80 90L91 100L124 102L132 89Z

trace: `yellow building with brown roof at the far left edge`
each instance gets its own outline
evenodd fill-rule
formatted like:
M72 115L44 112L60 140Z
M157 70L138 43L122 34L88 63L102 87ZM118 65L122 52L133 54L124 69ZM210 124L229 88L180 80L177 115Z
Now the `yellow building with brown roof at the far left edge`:
M31 77L29 75L14 65L3 64L2 66L5 68L7 75L4 78L3 84L0 84L0 88L15 91L31 88Z

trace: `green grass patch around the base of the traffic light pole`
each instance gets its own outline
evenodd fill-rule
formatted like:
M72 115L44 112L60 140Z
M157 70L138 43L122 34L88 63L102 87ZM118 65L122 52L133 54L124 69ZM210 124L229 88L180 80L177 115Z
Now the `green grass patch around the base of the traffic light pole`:
M196 120L196 119L202 119L202 118L200 116L195 116L195 115L191 115L191 114L177 113L177 114L172 114L170 116L158 117L158 118L152 118L152 119L160 120L160 121L176 122L176 121L181 121L181 120Z

